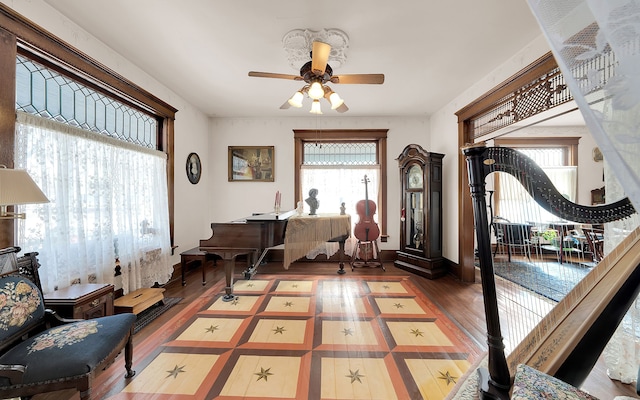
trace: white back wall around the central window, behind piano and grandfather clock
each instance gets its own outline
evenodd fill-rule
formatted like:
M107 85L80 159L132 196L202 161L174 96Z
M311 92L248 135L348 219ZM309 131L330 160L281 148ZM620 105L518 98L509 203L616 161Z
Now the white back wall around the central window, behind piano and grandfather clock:
M427 118L214 118L211 120L209 153L211 163L205 166L210 176L211 212L206 221L225 222L251 215L252 212L270 211L276 191L282 192L282 207L295 208L294 198L294 129L389 129L387 136L387 223L389 240L381 244L383 250L400 247L400 182L396 158L404 147L415 143L427 151L429 120ZM228 146L275 146L274 182L228 182ZM446 157L445 157L446 158ZM445 175L449 172L444 171ZM360 182L354 182L359 185ZM364 197L364 188L363 188ZM322 201L322 196L320 196ZM320 212L339 212L322 204ZM349 210L347 210L349 212ZM355 210L352 212L355 215ZM357 217L357 215L355 215ZM206 235L211 234L207 226ZM206 236L205 235L205 236ZM208 237L208 236L207 236Z

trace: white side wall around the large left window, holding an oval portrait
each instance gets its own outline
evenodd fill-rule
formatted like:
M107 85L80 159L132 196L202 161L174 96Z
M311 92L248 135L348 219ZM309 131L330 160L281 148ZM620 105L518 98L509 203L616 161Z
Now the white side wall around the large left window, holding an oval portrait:
M199 239L203 238L204 221L208 219L207 213L211 207L209 198L211 177L204 173L200 183L192 185L186 177L185 170L187 155L192 151L200 155L203 165L209 164L207 149L210 122L208 117L44 1L5 0L3 3L179 110L175 121L174 148L174 235L175 244L179 247L171 261L174 264L180 262L179 253L196 246Z

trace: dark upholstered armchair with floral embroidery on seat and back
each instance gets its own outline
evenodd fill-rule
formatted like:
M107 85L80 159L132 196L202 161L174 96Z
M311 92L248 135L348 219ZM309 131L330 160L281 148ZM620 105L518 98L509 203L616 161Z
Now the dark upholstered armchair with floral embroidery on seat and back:
M35 268L25 257L36 263ZM45 309L42 291L26 277L31 274L38 280L35 255L23 256L16 264L21 264L22 273L0 275L0 398L75 388L81 399L88 399L95 374L122 349L125 378L135 374L131 369L134 314L60 318Z

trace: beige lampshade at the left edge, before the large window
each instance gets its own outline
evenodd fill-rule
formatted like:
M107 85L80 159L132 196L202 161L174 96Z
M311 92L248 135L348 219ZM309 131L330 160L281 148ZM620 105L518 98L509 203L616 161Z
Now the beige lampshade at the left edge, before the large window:
M0 168L0 218L24 218L24 214L7 213L6 206L48 202L27 171Z

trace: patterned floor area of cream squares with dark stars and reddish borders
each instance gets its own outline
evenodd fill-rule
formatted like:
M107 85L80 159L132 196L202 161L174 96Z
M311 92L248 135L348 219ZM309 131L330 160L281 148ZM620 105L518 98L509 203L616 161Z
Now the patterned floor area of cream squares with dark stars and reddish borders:
M444 399L481 358L411 276L256 275L223 284L135 344L100 399Z

